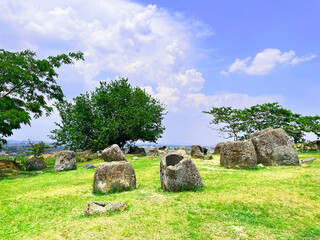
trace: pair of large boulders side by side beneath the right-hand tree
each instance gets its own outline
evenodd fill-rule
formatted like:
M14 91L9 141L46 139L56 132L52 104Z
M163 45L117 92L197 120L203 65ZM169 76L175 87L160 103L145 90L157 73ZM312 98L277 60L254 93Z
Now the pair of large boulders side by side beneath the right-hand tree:
M217 149L218 148L218 149ZM230 168L255 168L257 164L299 165L297 151L283 129L267 128L244 142L219 143L220 164Z

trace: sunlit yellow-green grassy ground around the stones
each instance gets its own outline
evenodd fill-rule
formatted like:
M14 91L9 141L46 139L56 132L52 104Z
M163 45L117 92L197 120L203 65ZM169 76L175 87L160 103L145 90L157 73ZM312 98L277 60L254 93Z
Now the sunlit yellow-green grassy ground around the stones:
M205 187L167 193L159 158L132 162L137 189L94 195L94 169L2 174L0 239L320 239L320 153L300 167L231 170L194 160ZM102 161L91 161L98 164ZM126 201L129 209L84 217L89 201Z

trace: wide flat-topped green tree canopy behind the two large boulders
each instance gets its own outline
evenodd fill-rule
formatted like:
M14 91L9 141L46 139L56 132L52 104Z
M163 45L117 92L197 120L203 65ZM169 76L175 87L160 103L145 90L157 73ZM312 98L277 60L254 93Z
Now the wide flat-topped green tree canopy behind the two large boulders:
M320 116L302 116L285 109L279 103L265 103L250 108L213 107L203 113L213 116L210 124L224 138L245 140L254 132L268 127L282 128L294 142L304 142L305 133L320 137Z

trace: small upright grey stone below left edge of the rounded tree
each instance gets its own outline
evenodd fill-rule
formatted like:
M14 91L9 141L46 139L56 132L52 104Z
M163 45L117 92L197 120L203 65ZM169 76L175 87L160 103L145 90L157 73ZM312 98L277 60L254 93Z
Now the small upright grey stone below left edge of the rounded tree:
M73 151L61 151L58 153L54 165L55 172L77 169L76 153Z

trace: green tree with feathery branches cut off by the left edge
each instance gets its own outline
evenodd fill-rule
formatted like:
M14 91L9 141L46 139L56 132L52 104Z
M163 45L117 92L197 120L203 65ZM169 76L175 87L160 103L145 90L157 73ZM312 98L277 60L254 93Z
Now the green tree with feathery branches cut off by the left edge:
M14 129L29 124L31 114L39 118L52 112L47 100L63 100L57 85L56 69L83 60L83 53L60 54L36 59L30 50L9 52L0 49L0 148ZM46 97L46 98L45 98Z

